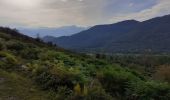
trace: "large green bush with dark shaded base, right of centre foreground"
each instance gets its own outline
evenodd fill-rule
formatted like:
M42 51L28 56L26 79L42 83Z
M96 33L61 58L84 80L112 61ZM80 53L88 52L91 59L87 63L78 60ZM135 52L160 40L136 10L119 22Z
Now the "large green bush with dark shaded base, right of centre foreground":
M140 78L121 68L106 68L97 77L106 92L116 97L125 96L130 84L140 81Z

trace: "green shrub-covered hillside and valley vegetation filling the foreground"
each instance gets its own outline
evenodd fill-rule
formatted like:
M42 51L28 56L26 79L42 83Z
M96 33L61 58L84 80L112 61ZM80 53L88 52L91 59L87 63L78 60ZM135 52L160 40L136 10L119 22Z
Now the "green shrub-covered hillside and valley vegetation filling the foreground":
M0 28L0 50L2 100L170 99L169 73L150 67L168 64L165 57L154 57L155 63L148 57L91 57L8 28Z

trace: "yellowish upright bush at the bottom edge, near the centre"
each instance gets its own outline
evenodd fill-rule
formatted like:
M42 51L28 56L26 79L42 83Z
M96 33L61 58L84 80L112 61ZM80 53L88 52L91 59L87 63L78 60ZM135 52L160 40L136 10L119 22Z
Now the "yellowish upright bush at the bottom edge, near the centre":
M71 100L114 100L105 92L98 80L92 79L88 84L84 87L77 84Z

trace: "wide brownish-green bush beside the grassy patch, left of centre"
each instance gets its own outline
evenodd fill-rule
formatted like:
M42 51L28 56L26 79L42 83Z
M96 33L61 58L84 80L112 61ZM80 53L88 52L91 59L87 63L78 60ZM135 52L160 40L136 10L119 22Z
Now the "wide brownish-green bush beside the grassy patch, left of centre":
M54 91L57 91L58 87L67 87L73 90L76 83L83 84L85 82L84 77L78 71L56 66L35 65L33 77L44 89Z

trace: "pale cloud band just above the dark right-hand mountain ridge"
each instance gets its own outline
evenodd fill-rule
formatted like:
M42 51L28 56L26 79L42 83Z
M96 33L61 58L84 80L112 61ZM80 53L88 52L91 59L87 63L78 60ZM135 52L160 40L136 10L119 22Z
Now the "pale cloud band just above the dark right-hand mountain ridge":
M159 0L157 1L157 4L155 6L149 9L144 9L140 12L135 12L135 13L132 12L127 15L119 14L119 15L113 16L110 22L129 20L129 19L136 19L139 21L144 21L144 20L148 20L153 17L170 14L169 9L170 9L169 0Z

